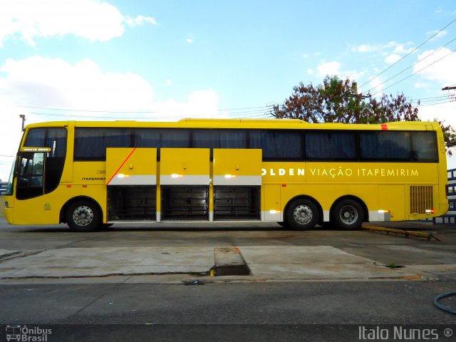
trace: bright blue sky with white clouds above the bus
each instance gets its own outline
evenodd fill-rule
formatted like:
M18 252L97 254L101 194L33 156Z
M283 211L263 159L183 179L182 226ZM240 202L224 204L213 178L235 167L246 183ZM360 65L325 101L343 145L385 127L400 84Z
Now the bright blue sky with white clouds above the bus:
M456 85L455 19L450 0L0 0L0 179L21 114L266 118L299 82L326 75L421 99L420 118L456 128L454 92L441 90Z

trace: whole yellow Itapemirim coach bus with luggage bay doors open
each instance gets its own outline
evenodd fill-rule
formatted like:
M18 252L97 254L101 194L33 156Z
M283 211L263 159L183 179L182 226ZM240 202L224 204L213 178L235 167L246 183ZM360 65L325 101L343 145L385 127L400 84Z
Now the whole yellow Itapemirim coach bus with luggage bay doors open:
M24 129L10 224L261 221L356 229L448 209L437 123L49 122Z

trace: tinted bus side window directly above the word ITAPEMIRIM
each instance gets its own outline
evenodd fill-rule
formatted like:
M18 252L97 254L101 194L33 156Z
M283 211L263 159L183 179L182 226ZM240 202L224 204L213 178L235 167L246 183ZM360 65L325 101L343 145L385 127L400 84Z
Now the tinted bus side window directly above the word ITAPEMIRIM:
M410 160L410 132L361 132L359 138L361 159Z

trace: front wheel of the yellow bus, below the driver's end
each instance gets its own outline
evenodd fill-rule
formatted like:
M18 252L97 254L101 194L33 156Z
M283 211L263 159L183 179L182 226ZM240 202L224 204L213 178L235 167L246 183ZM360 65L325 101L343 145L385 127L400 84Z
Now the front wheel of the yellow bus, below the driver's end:
M91 201L76 201L66 210L66 223L74 232L93 232L101 223L98 207Z

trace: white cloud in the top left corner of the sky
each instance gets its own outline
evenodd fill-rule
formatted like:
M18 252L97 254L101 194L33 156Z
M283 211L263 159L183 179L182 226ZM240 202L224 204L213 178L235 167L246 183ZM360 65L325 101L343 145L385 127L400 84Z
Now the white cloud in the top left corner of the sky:
M35 46L38 37L74 36L108 41L130 27L149 23L150 16L123 16L113 5L98 0L0 0L0 47L9 36L19 35Z

